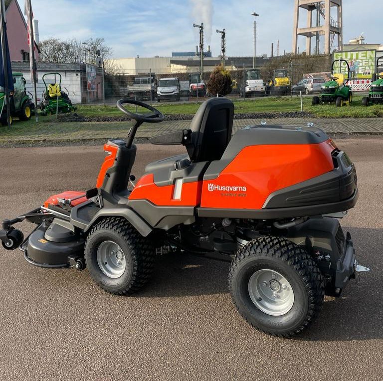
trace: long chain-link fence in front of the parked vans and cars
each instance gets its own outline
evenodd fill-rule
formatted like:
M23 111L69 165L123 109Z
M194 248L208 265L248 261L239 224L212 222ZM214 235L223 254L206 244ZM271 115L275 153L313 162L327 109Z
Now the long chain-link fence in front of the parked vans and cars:
M246 57L244 57L246 58ZM247 57L250 58L250 57ZM192 102L213 96L207 86L214 66L204 62L204 72L199 72L195 59L177 61L163 68L121 69L108 65L108 69L85 64L41 64L39 65L38 101L42 99L45 82L58 83L74 104L115 104L118 99L131 98L148 103ZM213 61L211 61L213 62ZM279 56L257 57L256 68L252 59L226 60L226 70L232 78L231 98L252 98L265 96L294 96L302 92L310 96L321 91L321 86L331 77L331 55L321 56ZM48 66L49 67L48 67ZM50 69L50 70L49 70ZM32 93L29 73L26 71L27 89ZM347 75L345 76L347 78ZM368 92L369 78L353 78L348 82L354 92Z

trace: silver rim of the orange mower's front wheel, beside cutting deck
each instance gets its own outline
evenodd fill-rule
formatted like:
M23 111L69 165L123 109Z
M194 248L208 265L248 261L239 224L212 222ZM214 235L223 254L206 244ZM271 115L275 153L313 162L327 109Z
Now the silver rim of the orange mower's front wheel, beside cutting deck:
M97 263L109 278L119 278L126 269L124 252L113 241L104 241L97 249Z

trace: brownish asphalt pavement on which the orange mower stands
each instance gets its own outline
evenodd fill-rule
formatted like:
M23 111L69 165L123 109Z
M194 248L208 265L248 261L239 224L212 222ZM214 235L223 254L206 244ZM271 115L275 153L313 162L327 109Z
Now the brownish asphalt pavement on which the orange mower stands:
M117 297L87 271L36 268L1 248L0 380L381 380L383 139L338 144L360 187L342 224L372 271L327 297L310 332L287 340L248 326L231 304L228 263L166 256L144 291ZM139 145L133 173L180 150ZM0 219L93 187L103 158L101 147L0 149Z

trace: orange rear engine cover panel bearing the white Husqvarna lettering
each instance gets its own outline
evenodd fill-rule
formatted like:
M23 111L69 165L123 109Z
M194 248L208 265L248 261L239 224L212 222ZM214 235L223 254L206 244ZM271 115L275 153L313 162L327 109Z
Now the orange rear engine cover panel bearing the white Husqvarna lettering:
M203 181L201 207L261 209L270 193L332 171L333 150L331 140L247 146L216 179Z

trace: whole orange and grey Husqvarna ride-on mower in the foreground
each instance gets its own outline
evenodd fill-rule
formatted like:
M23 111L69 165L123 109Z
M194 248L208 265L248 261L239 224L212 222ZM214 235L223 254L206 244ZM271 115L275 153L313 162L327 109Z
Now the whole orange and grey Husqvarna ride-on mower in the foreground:
M133 185L136 131L164 117L135 100L117 106L133 127L126 141L105 144L96 188L55 194L4 220L4 248L20 247L40 267L87 266L102 289L118 295L141 289L161 252L220 256L231 261L238 311L277 336L305 330L325 293L340 296L357 271L368 270L339 223L358 199L355 167L322 130L263 125L231 137L233 103L211 98L190 129L151 140L184 145L186 153L148 164ZM13 227L24 219L36 224L26 239Z

